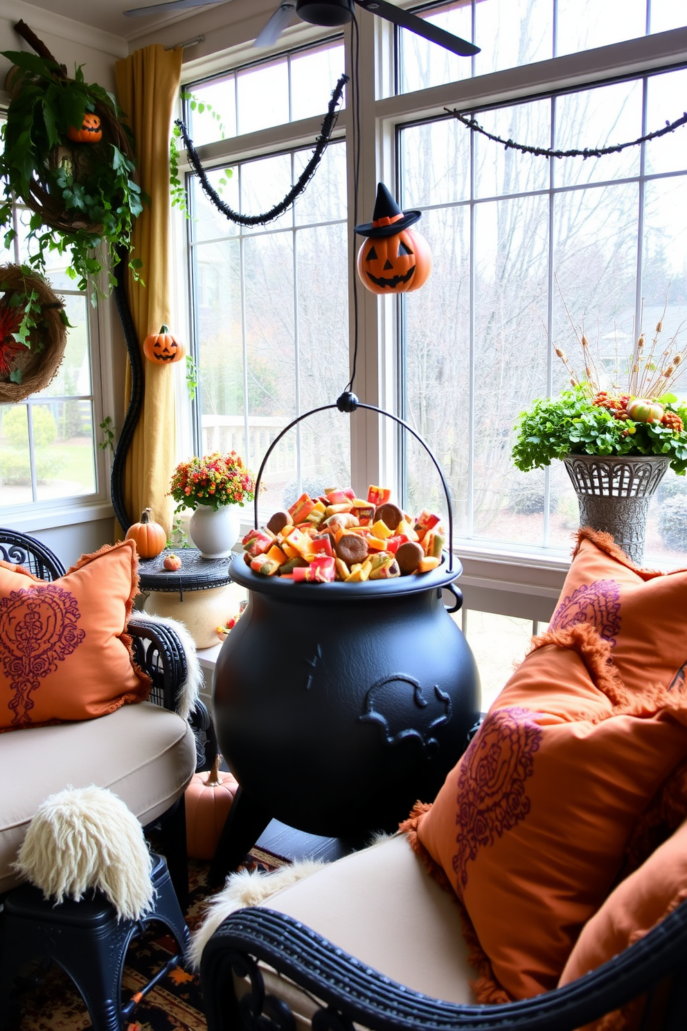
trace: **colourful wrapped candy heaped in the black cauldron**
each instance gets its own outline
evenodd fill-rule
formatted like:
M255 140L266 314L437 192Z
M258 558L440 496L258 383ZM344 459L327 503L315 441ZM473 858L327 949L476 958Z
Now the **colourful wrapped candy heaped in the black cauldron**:
M425 573L441 562L444 532L439 516L423 508L415 519L371 486L364 500L350 487L302 494L267 526L243 538L244 561L263 576L297 583L359 584Z

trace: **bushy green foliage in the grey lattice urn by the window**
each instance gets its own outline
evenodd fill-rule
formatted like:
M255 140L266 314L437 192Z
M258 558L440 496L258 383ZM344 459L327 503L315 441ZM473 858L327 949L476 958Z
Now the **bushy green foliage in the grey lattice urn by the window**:
M687 424L687 405L674 395L660 398L666 411ZM520 412L512 459L528 472L550 465L565 455L667 455L679 475L687 469L687 431L676 433L666 426L618 420L606 408L593 405L583 387L563 391L558 397L534 401Z

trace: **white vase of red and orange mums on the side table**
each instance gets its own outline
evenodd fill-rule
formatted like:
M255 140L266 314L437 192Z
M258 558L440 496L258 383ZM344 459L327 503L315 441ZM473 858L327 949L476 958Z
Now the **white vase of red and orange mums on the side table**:
M194 456L177 465L172 475L171 496L176 511L192 509L188 531L204 559L231 554L240 532L240 513L255 496L255 478L236 452Z

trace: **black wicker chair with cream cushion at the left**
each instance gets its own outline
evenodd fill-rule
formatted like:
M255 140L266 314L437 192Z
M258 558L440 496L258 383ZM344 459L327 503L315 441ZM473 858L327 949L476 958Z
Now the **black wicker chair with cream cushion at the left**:
M65 573L63 564L49 548L13 530L0 528L0 559L26 566L41 579L53 580ZM23 796L18 799L14 794L11 798L11 812L5 813L0 804L0 894L19 883L11 863L35 805L68 785L82 787L96 783L119 795L146 828L156 827L160 831L160 851L167 858L179 902L185 904L183 792L194 770L207 769L213 762L214 732L208 710L200 701L187 724L162 714L163 710L175 712L179 689L187 673L185 653L174 630L152 623L137 611L129 620L127 630L133 637L135 660L151 679L147 702L125 705L97 720L25 728L0 735L2 783L15 780L19 769L31 771ZM150 732L152 736L146 736ZM117 747L127 734L127 747ZM102 762L98 761L101 755ZM3 792L8 804L10 794Z

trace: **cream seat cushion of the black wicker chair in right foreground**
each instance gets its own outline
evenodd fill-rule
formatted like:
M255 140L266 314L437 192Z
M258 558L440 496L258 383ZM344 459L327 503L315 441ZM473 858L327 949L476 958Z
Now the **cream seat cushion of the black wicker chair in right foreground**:
M329 863L261 904L402 985L449 1002L476 1002L469 982L478 972L468 962L456 905L405 834ZM263 974L267 991L289 1004L299 1027L307 1026L318 1004L285 977L265 967Z

